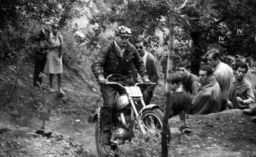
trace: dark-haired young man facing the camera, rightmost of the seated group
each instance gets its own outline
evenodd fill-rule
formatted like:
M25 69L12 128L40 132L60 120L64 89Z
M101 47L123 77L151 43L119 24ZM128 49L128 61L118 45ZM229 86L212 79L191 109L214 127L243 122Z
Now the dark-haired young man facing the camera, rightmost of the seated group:
M249 104L255 100L252 84L245 79L247 71L248 66L245 62L235 64L235 78L230 93L230 100L228 101L230 107L244 109L249 107Z

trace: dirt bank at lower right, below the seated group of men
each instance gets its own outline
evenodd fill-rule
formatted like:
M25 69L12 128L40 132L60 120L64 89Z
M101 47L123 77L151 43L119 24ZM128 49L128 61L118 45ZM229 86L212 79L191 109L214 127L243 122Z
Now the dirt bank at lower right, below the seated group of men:
M187 120L193 132L178 131L183 122L178 117L169 120L171 156L256 156L256 123L242 110L225 110L210 115L191 116Z

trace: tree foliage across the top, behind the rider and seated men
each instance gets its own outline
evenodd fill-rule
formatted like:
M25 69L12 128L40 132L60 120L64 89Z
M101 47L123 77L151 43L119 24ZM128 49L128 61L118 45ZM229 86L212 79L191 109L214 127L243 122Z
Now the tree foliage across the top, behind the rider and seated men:
M93 1L92 23L99 23L101 31L107 25L127 25L134 37L144 35L150 41L148 47L167 46L169 40L169 4L161 0ZM246 0L197 0L179 8L184 1L177 1L175 38L183 43L174 52L181 59L191 60L195 74L210 47L217 47L223 54L253 57L255 44L256 1ZM240 29L240 30L238 30ZM164 35L159 35L159 31ZM242 33L238 33L242 31ZM239 34L239 35L238 35ZM163 43L160 42L164 38ZM224 37L224 41L220 41ZM183 49L184 43L191 43ZM166 49L166 48L164 48ZM176 61L174 59L174 61ZM178 62L177 61L177 62ZM175 66L174 66L175 67Z

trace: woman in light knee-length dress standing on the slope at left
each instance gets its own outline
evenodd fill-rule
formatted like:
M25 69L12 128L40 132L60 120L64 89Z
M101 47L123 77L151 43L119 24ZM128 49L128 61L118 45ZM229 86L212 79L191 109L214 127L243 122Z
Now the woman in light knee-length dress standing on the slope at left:
M49 75L50 91L55 92L53 88L53 76L57 74L58 77L58 94L63 95L61 90L61 74L63 73L63 62L61 47L63 44L63 36L58 30L58 25L53 24L53 29L49 36L49 48L47 50L47 60L45 66L45 72Z

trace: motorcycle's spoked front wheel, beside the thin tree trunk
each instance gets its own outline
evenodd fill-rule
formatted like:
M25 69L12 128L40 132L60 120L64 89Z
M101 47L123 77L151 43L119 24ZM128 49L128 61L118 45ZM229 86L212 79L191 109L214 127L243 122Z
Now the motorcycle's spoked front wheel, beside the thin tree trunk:
M145 110L142 112L142 121L146 132L154 134L156 137L161 136L161 128L163 127L164 114L158 108L153 110Z

